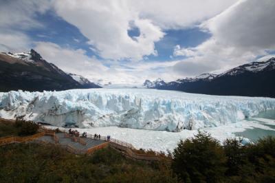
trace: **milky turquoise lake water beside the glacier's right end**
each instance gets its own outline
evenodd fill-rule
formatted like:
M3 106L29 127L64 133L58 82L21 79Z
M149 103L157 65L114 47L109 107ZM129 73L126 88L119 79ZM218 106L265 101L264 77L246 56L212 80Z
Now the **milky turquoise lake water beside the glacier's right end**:
M255 118L265 118L265 119L274 120L274 125L266 125L264 122L261 122L261 121L259 121L259 123L261 123L262 125L265 125L266 127L270 127L271 129L275 129L275 110L263 111L258 116L255 116ZM248 120L257 121L255 119L248 119ZM275 136L275 131L254 128L254 129L246 129L245 131L242 131L242 132L236 132L235 135L248 138L253 142L255 142L259 138L263 138L265 136Z

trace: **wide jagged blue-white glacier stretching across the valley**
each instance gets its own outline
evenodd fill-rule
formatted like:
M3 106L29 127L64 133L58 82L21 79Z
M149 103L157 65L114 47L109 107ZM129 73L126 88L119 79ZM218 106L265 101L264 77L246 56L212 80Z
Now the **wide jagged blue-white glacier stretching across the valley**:
M157 89L0 92L0 117L57 127L182 131L218 127L275 109L275 98L210 96Z

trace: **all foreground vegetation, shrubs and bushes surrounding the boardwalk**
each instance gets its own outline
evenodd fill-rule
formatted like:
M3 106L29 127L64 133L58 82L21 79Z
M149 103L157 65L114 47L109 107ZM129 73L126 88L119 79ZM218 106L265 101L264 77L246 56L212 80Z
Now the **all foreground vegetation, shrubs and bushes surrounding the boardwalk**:
M29 134L32 129L36 129L32 122L0 119L0 136L24 130ZM221 145L199 131L179 142L172 169L164 161L126 159L111 148L73 155L51 144L10 144L0 148L0 157L0 182L179 182L178 178L183 182L275 182L275 138L271 136L254 144L243 145L241 139L233 138Z

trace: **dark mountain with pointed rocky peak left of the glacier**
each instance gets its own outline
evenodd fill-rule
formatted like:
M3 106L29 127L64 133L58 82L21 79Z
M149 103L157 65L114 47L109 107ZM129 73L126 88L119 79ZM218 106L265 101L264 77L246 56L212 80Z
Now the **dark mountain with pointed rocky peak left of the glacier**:
M34 50L23 53L0 53L0 92L85 89L100 87L87 78L67 74L45 61Z

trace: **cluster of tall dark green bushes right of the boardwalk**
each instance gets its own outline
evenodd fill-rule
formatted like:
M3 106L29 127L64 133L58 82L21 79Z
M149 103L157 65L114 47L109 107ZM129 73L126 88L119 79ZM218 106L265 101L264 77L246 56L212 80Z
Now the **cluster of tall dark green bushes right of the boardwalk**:
M227 139L223 146L208 133L181 140L172 169L184 182L275 182L275 138L255 144Z

